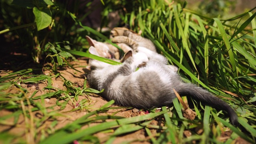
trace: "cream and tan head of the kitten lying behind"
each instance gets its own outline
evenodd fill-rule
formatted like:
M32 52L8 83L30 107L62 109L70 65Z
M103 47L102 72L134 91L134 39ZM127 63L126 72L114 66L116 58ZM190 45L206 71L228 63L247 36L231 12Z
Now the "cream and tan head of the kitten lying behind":
M86 39L89 42L89 45L94 47L98 56L101 56L101 57L104 57L104 58L114 58L114 54L112 54L110 52L110 50L109 50L109 48L106 44L104 44L103 42L97 42L96 40L90 38L89 36L86 36ZM90 49L89 49L89 52L90 52Z

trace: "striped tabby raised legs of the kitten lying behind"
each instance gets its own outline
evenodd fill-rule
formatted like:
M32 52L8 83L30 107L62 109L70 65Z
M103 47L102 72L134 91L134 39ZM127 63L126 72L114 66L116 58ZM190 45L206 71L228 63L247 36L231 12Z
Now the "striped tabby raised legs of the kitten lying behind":
M139 36L127 28L113 28L110 32L110 38L112 38L112 42L114 43L124 43L131 48L142 46L156 52L156 47L152 41Z

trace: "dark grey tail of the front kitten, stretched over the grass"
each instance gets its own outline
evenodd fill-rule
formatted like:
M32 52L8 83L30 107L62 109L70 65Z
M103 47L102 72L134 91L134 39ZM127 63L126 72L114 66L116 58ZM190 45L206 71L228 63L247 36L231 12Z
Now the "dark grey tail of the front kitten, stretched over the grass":
M210 92L194 84L184 84L184 86L177 87L176 90L182 96L192 96L193 99L200 100L203 104L212 106L218 110L224 110L230 117L233 125L238 125L238 116L234 109L220 98L212 95Z

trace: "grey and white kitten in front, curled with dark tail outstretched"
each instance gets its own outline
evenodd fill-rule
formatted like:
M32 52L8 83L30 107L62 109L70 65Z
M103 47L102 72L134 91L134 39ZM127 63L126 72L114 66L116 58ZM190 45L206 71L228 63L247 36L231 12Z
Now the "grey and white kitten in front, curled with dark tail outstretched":
M146 65L136 71L144 62ZM226 111L232 124L238 124L236 112L226 102L194 84L184 83L176 66L168 65L164 56L147 48L139 46L130 57L125 56L120 65L102 65L96 60L91 65L95 69L87 77L90 87L104 89L102 96L106 100L115 100L118 105L135 108L168 106L176 98L175 89L181 96L192 96L203 104Z

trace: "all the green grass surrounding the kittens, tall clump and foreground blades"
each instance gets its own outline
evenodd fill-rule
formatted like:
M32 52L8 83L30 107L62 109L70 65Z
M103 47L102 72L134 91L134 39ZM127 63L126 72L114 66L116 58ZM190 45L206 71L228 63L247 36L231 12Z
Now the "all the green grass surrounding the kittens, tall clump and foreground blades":
M110 5L109 1L105 2ZM12 72L0 77L0 110L8 110L12 113L0 118L2 126L19 126L18 120L23 117L25 122L25 139L22 136L12 136L8 131L0 133L0 140L5 143L22 140L21 143L38 142L48 143L72 143L78 142L98 143L100 139L94 134L109 132L106 143L112 143L118 136L130 134L137 130L144 130L147 139L151 143L220 143L220 138L225 130L232 130L232 134L225 143L234 143L239 137L254 143L256 139L256 20L254 12L246 12L241 16L222 20L220 18L208 18L197 14L192 10L183 8L180 4L170 4L164 0L136 1L131 3L132 11L124 13L122 19L130 24L132 30L142 30L142 35L154 42L159 53L168 58L170 64L179 67L179 73L186 82L192 82L208 89L214 95L222 98L232 106L238 114L240 126L235 127L229 123L225 112L217 112L209 106L202 106L194 102L194 111L197 116L193 121L182 116L182 108L178 100L174 100L174 106L162 111L150 110L150 114L122 118L120 116L99 115L110 109L114 101L110 101L101 108L93 110L88 106L90 93L99 93L97 90L86 88L86 80L80 88L77 84L65 79L58 72L58 67L72 66L68 62L69 54L61 51L60 45L52 45L50 49L53 55L54 70L50 75L36 74L39 70L26 69ZM83 26L82 23L70 14L72 20L85 31L100 38L110 40L96 32L92 28ZM70 18L70 19L71 19ZM132 22L134 20L134 24ZM133 24L133 25L132 25ZM88 53L62 49L71 54L95 58ZM56 59L55 59L56 58ZM57 62L54 62L57 60ZM106 61L105 61L106 62ZM111 63L111 61L109 61ZM113 63L112 63L113 64ZM73 67L72 67L73 68ZM61 78L66 90L59 90L52 86L52 78ZM38 84L45 82L44 90L47 93L35 96L35 91L28 97L28 90L20 84ZM14 93L8 90L15 89ZM78 103L78 97L88 97L88 100L80 102L73 111L86 110L87 114L70 122L60 129L55 129L59 123L58 116L69 117L60 112L68 102L74 106ZM56 104L44 107L45 98L56 98ZM59 106L59 110L54 110ZM48 112L48 110L52 110ZM34 118L33 112L42 113L42 118ZM8 118L13 118L8 122ZM162 119L164 126L152 125L155 119ZM46 129L45 122L50 120ZM97 125L90 124L100 122ZM197 129L203 130L197 134ZM157 130L152 134L151 130ZM108 131L109 130L109 131ZM192 134L184 136L184 131ZM23 135L23 136L24 136ZM145 140L137 140L145 141Z

